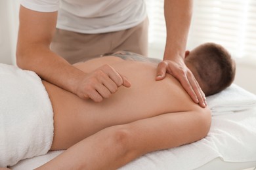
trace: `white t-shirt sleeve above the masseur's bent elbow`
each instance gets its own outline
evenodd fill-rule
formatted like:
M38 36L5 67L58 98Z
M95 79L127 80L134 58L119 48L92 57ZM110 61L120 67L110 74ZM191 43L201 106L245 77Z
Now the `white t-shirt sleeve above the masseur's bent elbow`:
M54 12L59 8L60 0L20 0L20 5L38 12Z

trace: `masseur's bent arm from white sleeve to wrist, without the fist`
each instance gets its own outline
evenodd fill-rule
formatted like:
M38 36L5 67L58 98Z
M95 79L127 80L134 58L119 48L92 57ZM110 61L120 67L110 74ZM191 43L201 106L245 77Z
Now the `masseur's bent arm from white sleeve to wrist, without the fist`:
M75 93L75 85L85 73L50 50L57 16L56 11L37 12L20 6L16 61L20 68Z

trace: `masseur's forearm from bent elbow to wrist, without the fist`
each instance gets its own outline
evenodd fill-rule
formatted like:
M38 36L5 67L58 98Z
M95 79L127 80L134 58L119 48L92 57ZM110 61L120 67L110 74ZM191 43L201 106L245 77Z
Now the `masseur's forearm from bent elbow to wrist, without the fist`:
M76 84L86 76L68 61L51 52L47 46L40 44L26 44L18 48L17 65L22 69L35 71L44 80L72 93L76 93Z

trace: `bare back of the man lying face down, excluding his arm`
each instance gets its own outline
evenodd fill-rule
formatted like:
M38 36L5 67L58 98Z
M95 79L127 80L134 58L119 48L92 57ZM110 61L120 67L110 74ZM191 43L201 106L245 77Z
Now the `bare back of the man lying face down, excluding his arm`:
M198 107L173 76L155 80L157 63L110 56L77 63L75 67L89 73L104 64L127 76L131 87L119 88L100 103L80 99L73 93L43 82L53 103L53 150L68 148L106 127Z

